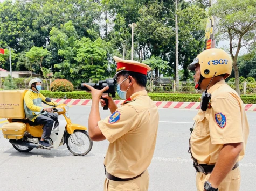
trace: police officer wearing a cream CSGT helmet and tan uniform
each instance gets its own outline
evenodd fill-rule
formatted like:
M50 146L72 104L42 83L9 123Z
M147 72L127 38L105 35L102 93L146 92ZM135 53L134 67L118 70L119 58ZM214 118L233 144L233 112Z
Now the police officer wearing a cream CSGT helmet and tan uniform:
M190 138L197 190L239 190L239 161L245 155L249 126L243 101L224 80L231 74L231 57L224 50L208 49L188 69L195 71L196 89L209 85Z

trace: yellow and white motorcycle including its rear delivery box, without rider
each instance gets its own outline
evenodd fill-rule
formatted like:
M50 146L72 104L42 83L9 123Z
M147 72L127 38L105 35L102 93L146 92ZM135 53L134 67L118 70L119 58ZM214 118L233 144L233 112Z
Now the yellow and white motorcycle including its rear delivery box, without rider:
M38 144L43 134L43 125L31 125L31 122L25 118L23 98L26 91L0 91L0 117L9 121L2 126L3 136L9 139L19 152L29 152L33 148L46 149ZM46 98L46 101L51 102L51 99ZM68 150L73 155L87 155L93 146L87 128L71 122L68 115L69 107L66 104L60 104L52 109L53 112L58 113L58 122L53 123L51 136L47 139L51 148L57 149L67 144Z

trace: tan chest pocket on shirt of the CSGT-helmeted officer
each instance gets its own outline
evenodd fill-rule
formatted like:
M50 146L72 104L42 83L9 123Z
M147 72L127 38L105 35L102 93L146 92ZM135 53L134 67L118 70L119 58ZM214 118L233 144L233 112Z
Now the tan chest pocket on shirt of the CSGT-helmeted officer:
M195 136L206 137L207 131L209 131L209 120L206 118L206 113L199 111L193 120L196 121L194 126Z

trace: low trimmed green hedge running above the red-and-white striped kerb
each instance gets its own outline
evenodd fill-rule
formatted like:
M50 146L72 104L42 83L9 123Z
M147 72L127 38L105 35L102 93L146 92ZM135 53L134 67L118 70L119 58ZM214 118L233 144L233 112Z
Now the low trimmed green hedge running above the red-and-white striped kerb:
M41 91L45 97L62 99L66 95L68 99L92 99L91 94L83 91L74 92L50 92ZM153 101L177 101L177 102L199 102L200 94L175 94L175 93L149 93L149 97ZM116 100L120 98L116 96ZM241 96L244 104L256 104L256 96Z

